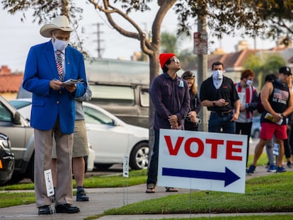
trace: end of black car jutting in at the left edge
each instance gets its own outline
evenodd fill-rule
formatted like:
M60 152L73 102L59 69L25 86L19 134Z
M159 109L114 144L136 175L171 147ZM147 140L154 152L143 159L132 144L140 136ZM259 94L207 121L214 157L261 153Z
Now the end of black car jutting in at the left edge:
M11 143L5 134L0 133L0 185L4 185L11 179L14 166L15 160L14 154L11 153Z

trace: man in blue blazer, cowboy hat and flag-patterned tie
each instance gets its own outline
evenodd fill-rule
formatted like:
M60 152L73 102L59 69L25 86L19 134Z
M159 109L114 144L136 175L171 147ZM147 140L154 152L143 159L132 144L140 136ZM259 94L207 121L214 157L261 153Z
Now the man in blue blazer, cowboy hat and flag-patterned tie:
M40 34L51 40L31 47L25 63L23 88L33 93L30 125L35 129L38 214L52 214L44 171L50 169L53 136L57 151L56 212L80 211L72 205L74 98L84 95L87 81L83 55L68 46L71 31L66 16L57 16L52 23L43 25ZM64 84L69 79L82 79L82 83Z

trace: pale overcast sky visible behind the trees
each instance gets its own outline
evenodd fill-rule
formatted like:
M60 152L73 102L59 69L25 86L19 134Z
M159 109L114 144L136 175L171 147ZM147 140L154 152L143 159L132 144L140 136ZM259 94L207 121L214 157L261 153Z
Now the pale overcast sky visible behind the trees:
M84 2L84 1L77 1ZM154 1L155 6L156 1ZM130 59L134 52L139 52L139 41L132 38L124 37L117 33L116 30L110 28L110 25L103 18L103 14L97 12L93 6L88 4L82 4L84 8L83 19L80 21L79 33L81 29L84 33L81 37L84 38L84 48L93 57L98 57L97 52L97 23L100 25L100 47L103 48L103 58L124 58ZM135 13L132 18L137 21L138 25L142 29L148 32L151 29L151 23L154 21L154 15L156 14L157 8L148 13ZM27 14L25 23L21 23L21 13L11 16L6 11L0 11L0 66L8 65L12 71L23 71L25 66L25 59L28 54L28 50L31 46L41 42L46 42L50 38L42 37L40 35L40 28L37 23L32 23L33 19ZM164 18L161 30L167 31L168 33L176 33L176 15L171 9L168 11L167 16ZM82 27L82 28L81 28ZM196 27L195 30L197 31ZM234 52L235 45L242 40L241 37L224 37L222 42L213 39L215 44L212 45L212 49L222 45L226 52ZM246 39L248 43L253 47L253 40ZM268 49L275 45L272 40L263 41L257 40L257 49ZM184 41L181 45L182 49L190 48L193 49L193 38L190 37Z

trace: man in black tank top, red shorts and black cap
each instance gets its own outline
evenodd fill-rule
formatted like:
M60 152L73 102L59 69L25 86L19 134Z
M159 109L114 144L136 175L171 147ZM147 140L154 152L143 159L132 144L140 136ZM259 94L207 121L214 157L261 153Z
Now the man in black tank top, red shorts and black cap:
M261 117L260 141L255 146L253 164L247 170L248 175L254 173L256 162L263 152L263 147L275 135L275 144L279 151L277 158L277 173L285 172L282 166L284 156L283 140L287 139L286 117L293 111L292 94L287 86L289 76L292 75L288 66L279 69L278 79L265 83L260 92L260 100L263 105ZM277 155L277 154L276 154Z

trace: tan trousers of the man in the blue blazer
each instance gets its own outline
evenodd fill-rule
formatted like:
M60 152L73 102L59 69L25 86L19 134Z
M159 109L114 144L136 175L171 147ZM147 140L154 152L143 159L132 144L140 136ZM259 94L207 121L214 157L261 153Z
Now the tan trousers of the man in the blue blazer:
M57 120L58 121L58 120ZM35 202L37 207L50 205L47 197L44 171L49 170L52 161L52 139L56 140L57 183L56 204L72 204L72 146L73 134L62 134L59 123L48 130L35 129Z

